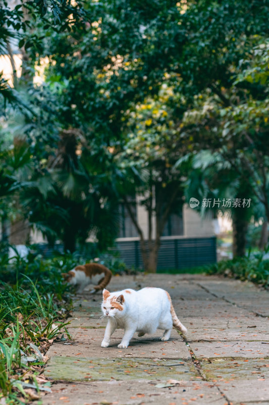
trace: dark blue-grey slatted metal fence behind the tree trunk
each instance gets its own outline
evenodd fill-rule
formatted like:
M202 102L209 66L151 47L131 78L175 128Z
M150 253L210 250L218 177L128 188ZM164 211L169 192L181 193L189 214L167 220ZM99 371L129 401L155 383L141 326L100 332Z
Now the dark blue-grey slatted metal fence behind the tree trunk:
M143 268L138 238L117 240L117 249L128 267ZM157 269L184 269L216 262L216 236L163 237Z

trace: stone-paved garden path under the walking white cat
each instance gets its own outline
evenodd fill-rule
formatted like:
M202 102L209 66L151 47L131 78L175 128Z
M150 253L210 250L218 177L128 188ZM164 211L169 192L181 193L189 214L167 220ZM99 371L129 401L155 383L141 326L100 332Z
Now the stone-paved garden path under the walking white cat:
M198 274L115 276L110 291L166 289L188 329L139 338L119 349L122 331L101 348L101 294L75 299L74 342L54 342L44 405L269 404L269 294L249 282ZM67 344L69 343L69 344Z

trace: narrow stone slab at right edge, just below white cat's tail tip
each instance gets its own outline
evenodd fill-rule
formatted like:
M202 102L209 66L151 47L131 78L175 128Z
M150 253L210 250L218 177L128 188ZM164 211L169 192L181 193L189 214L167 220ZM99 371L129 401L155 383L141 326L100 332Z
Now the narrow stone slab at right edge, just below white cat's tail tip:
M269 345L257 341L191 342L190 347L197 358L263 358L269 356Z

